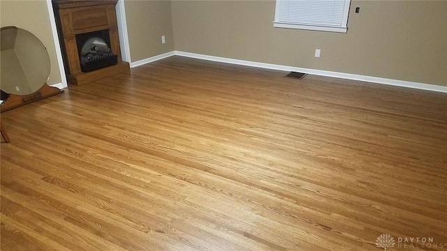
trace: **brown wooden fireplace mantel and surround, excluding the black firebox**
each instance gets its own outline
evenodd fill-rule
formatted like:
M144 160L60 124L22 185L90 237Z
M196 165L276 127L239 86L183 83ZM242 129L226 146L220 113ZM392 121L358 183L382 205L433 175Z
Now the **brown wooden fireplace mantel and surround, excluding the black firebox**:
M119 49L119 33L115 5L117 0L53 1L57 31L64 58L64 66L69 84L87 84L117 73L129 72L129 63L123 62ZM89 73L80 67L76 35L107 29L110 36L110 49L117 54L118 63Z

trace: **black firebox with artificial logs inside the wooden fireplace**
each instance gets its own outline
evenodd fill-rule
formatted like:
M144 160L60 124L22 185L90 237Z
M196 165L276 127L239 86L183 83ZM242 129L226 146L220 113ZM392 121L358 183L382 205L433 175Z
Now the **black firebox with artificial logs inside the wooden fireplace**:
M81 70L87 73L118 62L118 56L110 50L109 31L93 31L76 35Z

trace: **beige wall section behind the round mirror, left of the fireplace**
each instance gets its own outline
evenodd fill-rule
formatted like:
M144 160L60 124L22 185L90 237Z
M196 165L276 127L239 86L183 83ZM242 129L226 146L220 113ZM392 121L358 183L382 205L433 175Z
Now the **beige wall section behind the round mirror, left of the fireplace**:
M25 29L40 39L50 54L50 79L47 84L61 83L56 50L50 26L47 3L39 1L0 1L0 26L16 26Z

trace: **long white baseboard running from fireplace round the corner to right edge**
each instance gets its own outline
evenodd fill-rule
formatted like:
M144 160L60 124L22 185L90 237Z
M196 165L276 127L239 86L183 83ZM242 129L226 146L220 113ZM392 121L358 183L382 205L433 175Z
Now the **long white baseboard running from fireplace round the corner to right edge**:
M351 73L337 73L332 72L328 70L315 70L315 69L309 69L309 68L300 68L300 67L294 67L294 66L281 66L277 64L272 63L259 63L255 61L245 61L240 59L230 59L225 58L221 56L208 56L205 54L196 54L191 52L182 52L182 51L172 51L172 52L166 52L164 54L160 54L157 56L152 56L148 59L142 59L140 61L135 61L131 63L131 68L136 66L141 66L145 63L151 63L160 59L165 59L169 56L186 56L194 59L204 59L208 61L217 61L222 63L233 63L241 66L252 66L252 67L258 67L258 68L266 68L266 69L272 69L272 70L284 70L284 71L294 71L299 73L307 73L312 75L318 75L318 76L325 76L325 77L337 77L342 79L352 79L352 80L358 80L363 82L372 82L376 84L388 84L392 86L403 86L413 89L421 89L421 90L427 90L427 91L437 91L441 93L447 93L447 86L439 86L436 84L424 84L424 83L418 83L418 82L409 82L404 80L397 80L397 79L387 79L383 77L371 77L371 76L365 76L365 75L356 75Z

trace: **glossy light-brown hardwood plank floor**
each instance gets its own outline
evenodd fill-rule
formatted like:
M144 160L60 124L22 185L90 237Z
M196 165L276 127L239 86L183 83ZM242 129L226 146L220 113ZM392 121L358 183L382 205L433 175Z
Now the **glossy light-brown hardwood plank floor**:
M1 250L447 250L447 94L284 75L173 56L4 112Z

